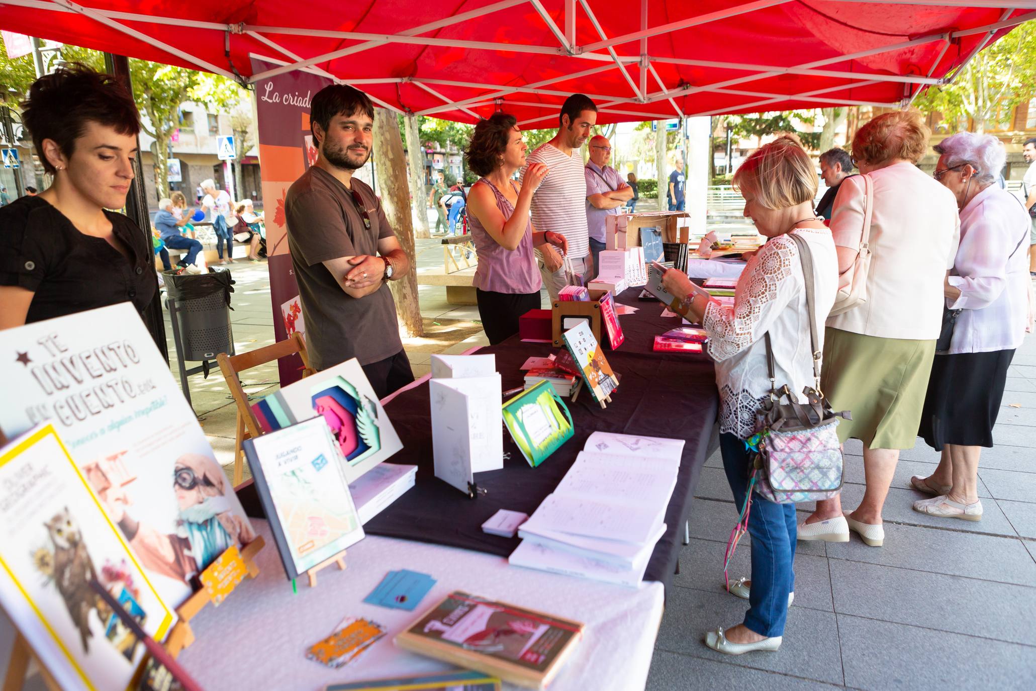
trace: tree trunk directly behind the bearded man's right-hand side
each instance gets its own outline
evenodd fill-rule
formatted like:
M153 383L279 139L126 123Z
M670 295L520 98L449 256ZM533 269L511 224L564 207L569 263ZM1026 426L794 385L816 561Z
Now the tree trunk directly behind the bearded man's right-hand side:
M399 136L396 113L383 108L374 109L374 155L377 156L374 169L385 217L410 260L407 275L388 284L396 300L396 315L408 337L424 336L418 305L418 257L413 248L413 214L410 212L403 140Z

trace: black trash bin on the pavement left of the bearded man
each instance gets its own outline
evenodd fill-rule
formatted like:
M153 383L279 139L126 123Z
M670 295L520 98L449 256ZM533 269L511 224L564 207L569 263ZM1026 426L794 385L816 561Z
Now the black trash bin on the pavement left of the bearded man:
M234 354L230 326L230 293L234 281L228 270L208 273L163 273L169 300L170 320L180 362L214 359Z

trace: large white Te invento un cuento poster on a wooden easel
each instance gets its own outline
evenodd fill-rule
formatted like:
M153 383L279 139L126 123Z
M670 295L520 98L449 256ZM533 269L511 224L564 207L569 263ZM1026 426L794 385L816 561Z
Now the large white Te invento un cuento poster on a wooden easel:
M50 423L162 598L178 606L224 550L255 537L130 303L0 332L7 438Z

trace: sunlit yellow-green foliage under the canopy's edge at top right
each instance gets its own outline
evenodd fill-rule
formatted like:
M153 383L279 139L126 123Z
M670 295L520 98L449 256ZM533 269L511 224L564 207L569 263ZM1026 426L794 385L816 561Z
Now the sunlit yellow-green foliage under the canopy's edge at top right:
M1009 117L1013 108L1033 94L1036 84L1036 22L1025 22L976 55L953 81L928 87L914 102L922 111L943 114L948 133L975 132ZM990 122L992 121L992 122ZM1008 128L1010 123L1005 122Z

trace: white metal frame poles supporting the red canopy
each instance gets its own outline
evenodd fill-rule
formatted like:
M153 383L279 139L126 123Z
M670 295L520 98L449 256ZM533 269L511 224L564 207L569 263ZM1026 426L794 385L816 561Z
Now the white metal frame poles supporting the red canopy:
M460 15L455 15L453 17L443 18L435 22L430 22L423 24L421 26L407 29L395 34L375 34L375 33L365 33L355 31L329 31L320 29L310 29L310 28L297 28L297 27L274 27L274 26L256 26L249 24L221 24L215 22L201 22L196 20L185 20L174 17L154 17L148 15L139 15L134 12L124 11L111 11L91 8L85 5L71 2L71 0L0 0L0 5L15 5L20 7L27 7L32 9L40 9L48 11L57 12L78 12L84 17L90 18L105 26L108 26L116 31L119 31L127 36L144 40L150 45L159 48L170 55L175 55L180 59L198 66L201 69L210 71L217 75L222 75L224 77L238 80L240 78L230 70L220 67L215 64L210 63L198 56L192 55L191 53L171 46L169 44L163 42L155 39L153 36L144 34L133 27L126 26L123 22L140 22L148 24L159 24L159 25L170 25L177 27L190 27L197 29L207 29L225 32L227 36L227 41L229 45L230 36L247 34L248 36L254 38L255 40L263 44L267 48L276 51L280 54L280 57L275 58L270 56L270 62L280 64L280 66L253 75L251 78L244 80L248 83L256 83L263 79L268 79L276 75L281 75L284 73L292 71L295 69L304 69L306 71L311 71L319 74L321 76L330 78L337 82L347 82L348 84L363 89L365 85L384 85L384 84L400 84L409 83L414 86L427 91L429 94L435 96L439 100L442 100L442 105L435 106L432 108L426 108L421 111L416 111L418 115L435 115L437 113L442 113L447 111L460 110L474 118L480 118L481 116L476 113L472 108L483 107L487 105L500 104L503 96L509 96L511 94L538 94L538 95L568 95L568 92L551 90L549 87L551 84L556 82L568 81L571 79L577 79L581 77L588 77L591 75L618 69L621 70L626 85L630 89L630 93L620 94L586 94L589 97L598 102L598 109L605 113L614 113L620 115L635 115L643 116L645 119L650 118L671 118L671 117L690 117L690 116L704 116L704 115L717 115L727 112L729 109L714 109L701 112L691 112L684 113L674 100L674 96L684 96L700 91L715 92L715 93L726 93L732 95L751 96L757 97L758 100L754 100L747 104L739 104L731 108L739 111L743 111L746 108L764 108L766 106L780 103L780 102L790 102L796 99L808 98L814 103L821 104L832 104L841 106L875 106L883 108L896 108L909 106L913 99L920 93L920 89L913 90L913 86L925 86L932 84L947 84L952 82L956 75L960 74L961 69L971 61L971 59L982 49L988 41L992 38L997 31L1004 28L1014 27L1023 22L1036 19L1036 0L829 0L832 2L855 2L855 3L870 3L870 4L913 4L913 5L929 5L929 6L948 6L948 7L984 7L984 8L997 8L1003 9L1004 12L1001 16L1001 20L994 24L988 24L985 26L975 27L971 29L960 30L960 31L947 31L942 33L931 33L911 40L900 41L896 44L890 44L887 46L881 46L879 48L868 49L865 51L860 51L857 53L850 53L844 55L838 55L831 58L825 58L823 60L815 60L812 62L807 62L798 65L782 66L782 65L765 65L765 64L748 64L748 63L736 63L736 62L717 62L710 60L692 60L683 58L669 58L663 56L652 56L648 54L648 38L651 36L656 36L659 34L664 34L672 31L678 31L681 29L686 29L694 26L702 26L709 24L710 22L718 22L720 20L729 19L731 17L737 17L739 15L744 15L746 12L751 12L753 10L762 9L766 7L771 7L774 5L783 4L792 0L754 0L752 2L746 2L743 4L735 5L726 9L719 11L708 12L703 15L697 15L694 17L689 17L687 19L679 20L675 22L669 22L667 24L649 27L648 26L648 2L646 0L641 0L640 4L640 29L631 33L626 33L618 36L607 36L601 28L593 9L591 8L589 0L565 0L565 26L564 29L554 22L550 13L544 8L540 0L500 0L499 2L488 4L484 7L473 9ZM553 34L557 41L556 46L530 46L524 44L503 44L503 42L490 42L490 41L478 41L478 40L459 40L454 38L437 38L431 36L425 36L431 31L441 29L447 26L459 24L471 19L485 17L492 15L494 12L499 12L505 9L509 9L516 5L530 4L536 12L541 17L544 25L549 29L550 33ZM1009 19L1009 16L1013 10L1016 9L1029 9L1034 10L1027 12L1025 15L1019 15ZM575 40L576 33L576 20L579 12L582 12L586 20L593 25L595 31L600 36L600 40L593 44L587 44L579 46ZM936 66L940 63L946 51L949 49L951 42L955 38L970 35L985 34L984 38L980 40L972 52L965 58L960 65L957 66L952 74L947 75L944 78L932 78L931 75L936 69ZM352 45L343 49L339 49L329 53L323 53L320 55L314 55L310 57L303 57L297 53L287 50L286 48L280 46L276 40L275 36L278 35L306 35L306 36L317 36L317 37L327 37L327 38L338 38L343 40L359 40L361 44ZM889 51L901 50L910 48L913 46L918 46L922 44L930 44L942 41L943 48L939 54L939 57L932 63L931 68L925 76L920 75L888 75L888 74L867 74L858 71L841 71L837 69L824 69L823 67L846 60L860 59L872 55L877 55L881 53L886 53ZM466 50L484 50L484 51L509 51L514 53L533 53L540 55L562 55L569 56L572 58L577 58L581 60L586 60L588 64L593 63L594 66L589 66L587 69L575 74L567 74L560 77L553 77L551 79L546 79L540 82L535 82L524 85L498 85L498 84L479 84L474 82L459 82L440 79L425 79L425 78L383 78L383 79L356 79L349 80L347 78L341 78L337 75L333 75L324 69L317 67L319 63L327 62L329 60L338 59L346 55L355 55L357 53L363 53L364 51L371 50L386 44L403 44L403 45L415 45L415 46L443 46L450 48L463 48ZM637 55L620 55L615 51L615 47L623 46L626 44L639 44L639 51ZM262 57L262 56L260 56ZM287 59L287 60L286 60ZM703 85L681 85L677 87L668 87L659 76L655 68L656 64L674 64L674 65L690 65L699 67L716 67L726 70L744 70L746 73L743 77L737 77L733 79L728 79L721 82L716 82L712 84ZM639 81L635 81L631 77L628 67L636 66L639 69ZM654 82L657 84L658 91L649 90L649 75L653 78ZM834 87L827 87L824 89L816 89L812 91L805 91L802 93L795 94L781 94L781 93L771 93L755 91L751 89L736 89L739 84L745 84L748 82L753 82L759 79L767 79L771 77L778 77L780 75L806 75L806 76L818 76L818 77L832 77L838 79L853 80L845 84L840 84ZM903 84L903 96L894 103L880 103L880 102L868 102L868 100L853 100L846 98L828 98L824 97L824 93L843 91L852 88L869 86L872 84L877 84L882 82L894 82ZM449 87L462 87L474 90L482 90L474 96L470 96L462 99L452 99L449 96L441 94L435 89L436 86L449 86ZM396 112L403 112L398 107L375 98L372 99L379 106L388 108ZM642 112L642 111L631 111L624 110L621 107L623 105L636 104L636 105L648 105L656 104L661 102L667 102L671 107L672 112ZM554 106L551 104L543 103L533 103L533 102L508 102L515 103L515 105L523 106L535 106L538 108L551 110L560 109L560 106ZM556 117L556 115L544 115L536 118L530 118L520 122L521 125L530 125L543 120L550 120Z

